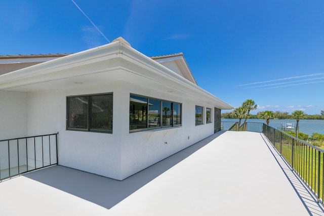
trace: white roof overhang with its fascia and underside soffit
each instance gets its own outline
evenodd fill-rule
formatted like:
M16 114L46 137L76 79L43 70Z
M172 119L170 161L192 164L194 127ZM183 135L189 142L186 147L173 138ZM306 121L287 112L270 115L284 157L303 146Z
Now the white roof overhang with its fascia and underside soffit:
M44 91L112 81L127 81L170 94L192 96L193 100L199 99L220 109L233 108L123 41L0 75L0 91Z

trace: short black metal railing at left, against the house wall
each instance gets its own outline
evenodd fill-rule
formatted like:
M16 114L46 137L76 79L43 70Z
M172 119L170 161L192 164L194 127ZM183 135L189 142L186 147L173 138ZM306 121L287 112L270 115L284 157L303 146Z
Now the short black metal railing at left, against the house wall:
M0 140L0 180L58 164L57 136Z

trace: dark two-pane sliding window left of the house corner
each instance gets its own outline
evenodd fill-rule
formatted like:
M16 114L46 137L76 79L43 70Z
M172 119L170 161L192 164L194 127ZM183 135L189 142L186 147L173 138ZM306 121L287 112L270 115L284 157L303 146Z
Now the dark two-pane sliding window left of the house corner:
M67 97L67 129L112 133L112 93Z

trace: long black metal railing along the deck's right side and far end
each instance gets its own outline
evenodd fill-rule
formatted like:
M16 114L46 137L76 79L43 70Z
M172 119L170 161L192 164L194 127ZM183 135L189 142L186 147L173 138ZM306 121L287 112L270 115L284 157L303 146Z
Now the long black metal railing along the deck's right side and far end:
M250 131L263 133L273 147L290 164L291 168L323 203L324 197L324 150L299 140L278 129L261 122L246 122L238 127L238 122L222 121L223 131Z

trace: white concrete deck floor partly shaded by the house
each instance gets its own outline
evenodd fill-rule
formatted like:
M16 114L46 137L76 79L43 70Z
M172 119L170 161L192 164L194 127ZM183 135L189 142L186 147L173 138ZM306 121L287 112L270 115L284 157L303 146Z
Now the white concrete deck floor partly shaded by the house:
M0 215L324 215L280 158L262 134L219 132L124 181L64 166L3 181Z

